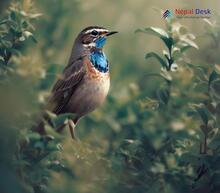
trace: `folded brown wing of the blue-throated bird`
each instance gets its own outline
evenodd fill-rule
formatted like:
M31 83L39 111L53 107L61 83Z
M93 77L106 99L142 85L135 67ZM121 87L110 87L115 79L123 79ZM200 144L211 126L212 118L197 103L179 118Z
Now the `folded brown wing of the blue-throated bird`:
M55 83L46 109L59 114L69 102L85 72L82 58L68 65L62 74L63 77Z

